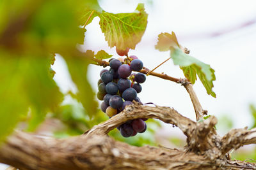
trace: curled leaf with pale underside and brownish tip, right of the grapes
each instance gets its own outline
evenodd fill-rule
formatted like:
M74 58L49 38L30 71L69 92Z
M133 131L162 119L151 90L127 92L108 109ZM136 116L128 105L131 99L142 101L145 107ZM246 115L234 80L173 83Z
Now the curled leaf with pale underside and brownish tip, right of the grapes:
M204 85L207 94L216 97L216 94L212 91L212 81L216 80L214 69L212 69L209 64L205 64L204 62L195 59L195 57L184 53L180 48L174 32L172 32L172 34L159 34L158 42L155 47L159 51L170 50L173 63L180 66L184 76L186 76L191 83L195 83L197 74Z

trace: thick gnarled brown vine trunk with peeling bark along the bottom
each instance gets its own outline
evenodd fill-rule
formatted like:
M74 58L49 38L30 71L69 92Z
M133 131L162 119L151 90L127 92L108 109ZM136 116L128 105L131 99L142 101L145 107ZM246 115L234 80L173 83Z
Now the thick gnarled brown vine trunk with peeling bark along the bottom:
M111 129L134 118L158 118L187 136L184 150L136 147L109 138ZM255 143L256 130L234 129L221 138L209 117L194 122L173 108L134 103L95 125L82 136L38 138L15 132L0 148L0 162L19 169L256 169L256 164L230 160L228 150Z

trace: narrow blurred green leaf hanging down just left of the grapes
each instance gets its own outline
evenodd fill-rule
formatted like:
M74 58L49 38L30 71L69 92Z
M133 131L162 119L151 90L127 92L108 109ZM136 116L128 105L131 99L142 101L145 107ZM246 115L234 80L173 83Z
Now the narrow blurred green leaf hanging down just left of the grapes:
M93 117L97 112L98 103L95 101L95 93L87 80L88 60L84 58L65 57L69 73L74 83L76 83L78 92L74 95L77 101L83 104L86 113Z

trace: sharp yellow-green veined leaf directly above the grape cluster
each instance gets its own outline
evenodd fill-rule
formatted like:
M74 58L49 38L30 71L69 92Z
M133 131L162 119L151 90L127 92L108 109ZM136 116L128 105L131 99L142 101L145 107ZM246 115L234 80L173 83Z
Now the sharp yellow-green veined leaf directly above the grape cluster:
M127 47L134 49L143 36L147 27L147 13L144 4L138 4L133 13L99 14L100 28L110 47L116 46L120 50Z

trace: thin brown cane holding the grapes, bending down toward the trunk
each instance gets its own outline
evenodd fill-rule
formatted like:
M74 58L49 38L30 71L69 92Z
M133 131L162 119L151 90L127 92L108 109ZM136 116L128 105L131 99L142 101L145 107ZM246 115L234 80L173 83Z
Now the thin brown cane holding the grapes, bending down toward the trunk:
M94 61L94 62L92 62L92 64L98 64L99 66L103 66L103 67L109 66L109 62L107 62L105 60L96 59L95 57L92 57L90 59ZM143 67L143 69L141 69L138 72L143 73L143 74L149 73L149 75L151 75L151 76L156 76L156 77L162 78L164 80L170 80L175 83L181 83L182 85L184 85L184 87L188 91L190 99L193 103L195 113L196 113L196 121L202 119L204 117L204 115L207 115L207 110L203 110L203 108L198 100L198 97L196 96L195 91L193 90L193 86L187 79L174 78L172 76L168 76L167 74L156 73L154 71L149 72L149 69L147 69L146 67Z

